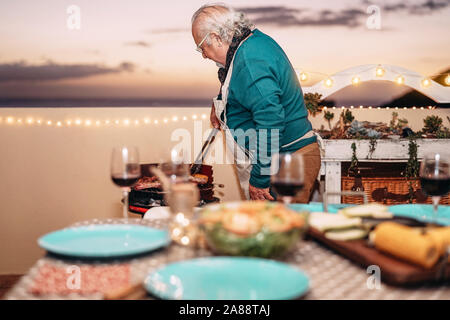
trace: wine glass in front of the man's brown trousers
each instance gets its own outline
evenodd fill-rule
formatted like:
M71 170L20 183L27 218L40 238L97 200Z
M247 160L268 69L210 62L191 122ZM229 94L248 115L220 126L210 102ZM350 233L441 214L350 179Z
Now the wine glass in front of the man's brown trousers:
M303 189L305 169L303 156L295 153L280 153L272 156L271 185L284 204L292 202Z

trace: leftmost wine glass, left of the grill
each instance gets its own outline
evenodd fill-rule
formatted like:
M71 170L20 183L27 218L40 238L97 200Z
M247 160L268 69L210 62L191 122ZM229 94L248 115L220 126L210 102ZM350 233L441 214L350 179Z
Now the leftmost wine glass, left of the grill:
M136 147L116 147L111 157L111 179L123 192L123 217L128 218L128 193L141 178L139 152Z

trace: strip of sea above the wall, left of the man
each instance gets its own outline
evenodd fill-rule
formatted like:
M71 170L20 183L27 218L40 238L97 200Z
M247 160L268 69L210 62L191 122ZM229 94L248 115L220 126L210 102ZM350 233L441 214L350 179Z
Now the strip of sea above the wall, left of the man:
M0 98L0 108L211 107L211 99L29 99Z

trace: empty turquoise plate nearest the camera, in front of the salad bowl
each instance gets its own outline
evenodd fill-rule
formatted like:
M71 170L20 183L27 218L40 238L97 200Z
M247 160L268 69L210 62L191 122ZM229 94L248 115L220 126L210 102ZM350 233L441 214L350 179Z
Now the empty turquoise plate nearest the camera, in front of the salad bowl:
M145 280L151 294L183 300L281 300L306 293L308 277L274 260L209 257L166 265Z

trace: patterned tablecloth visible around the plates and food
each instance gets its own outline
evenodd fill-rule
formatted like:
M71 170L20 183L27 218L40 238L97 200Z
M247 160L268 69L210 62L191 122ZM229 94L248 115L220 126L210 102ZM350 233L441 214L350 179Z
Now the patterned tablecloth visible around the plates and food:
M90 224L133 223L154 228L165 228L166 220L145 219L107 219L91 220L77 223L74 226ZM39 281L38 277L43 267L55 269L78 266L80 268L129 266L131 283L142 282L146 276L157 268L171 262L187 260L196 257L211 256L206 249L191 249L178 245L155 252L135 256L128 259L114 260L70 260L47 254L24 275L6 295L6 299L103 299L101 293L69 292L64 294L35 294L33 287ZM289 263L304 271L310 277L310 290L304 299L450 299L449 284L427 284L415 288L392 287L381 283L374 286L372 273L353 264L349 260L335 254L312 240L300 241L297 247L280 261ZM148 295L147 299L154 299Z

